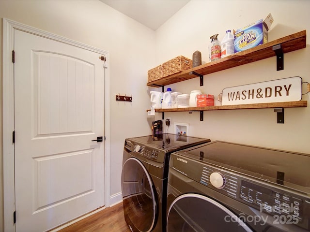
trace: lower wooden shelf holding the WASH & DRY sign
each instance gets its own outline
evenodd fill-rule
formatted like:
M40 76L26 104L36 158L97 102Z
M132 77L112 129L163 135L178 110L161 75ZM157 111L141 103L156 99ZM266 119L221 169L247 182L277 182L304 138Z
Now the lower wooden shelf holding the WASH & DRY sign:
M291 108L291 107L307 107L307 101L298 102L272 102L272 103L256 103L243 105L216 105L206 107L188 107L173 109L155 109L155 112L184 112L184 111L207 111L207 110L240 110L240 109L265 109L265 108ZM147 110L150 111L150 110Z

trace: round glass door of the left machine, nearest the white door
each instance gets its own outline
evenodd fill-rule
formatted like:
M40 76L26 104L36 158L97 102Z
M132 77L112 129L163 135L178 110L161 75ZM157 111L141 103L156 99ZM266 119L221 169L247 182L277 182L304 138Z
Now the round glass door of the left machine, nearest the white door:
M129 158L122 171L124 214L140 232L150 232L157 218L155 188L140 160Z

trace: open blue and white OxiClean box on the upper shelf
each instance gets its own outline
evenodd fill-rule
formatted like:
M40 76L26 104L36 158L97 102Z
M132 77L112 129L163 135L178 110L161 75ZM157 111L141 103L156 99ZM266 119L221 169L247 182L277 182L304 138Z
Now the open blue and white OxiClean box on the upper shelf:
M261 19L234 33L234 52L241 52L268 42L268 30L273 22L269 13L265 20Z

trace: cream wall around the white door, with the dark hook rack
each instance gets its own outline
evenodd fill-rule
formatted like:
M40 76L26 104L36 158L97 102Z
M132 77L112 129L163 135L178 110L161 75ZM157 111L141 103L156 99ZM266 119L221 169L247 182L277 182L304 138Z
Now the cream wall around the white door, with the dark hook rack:
M110 196L120 193L124 139L150 134L147 70L154 64L155 31L98 0L0 0L0 108L2 109L2 18L109 51ZM133 102L116 102L116 94ZM2 111L0 113L2 147ZM0 149L0 231L3 231L3 174ZM5 155L5 154L4 154ZM13 183L12 183L13 184Z

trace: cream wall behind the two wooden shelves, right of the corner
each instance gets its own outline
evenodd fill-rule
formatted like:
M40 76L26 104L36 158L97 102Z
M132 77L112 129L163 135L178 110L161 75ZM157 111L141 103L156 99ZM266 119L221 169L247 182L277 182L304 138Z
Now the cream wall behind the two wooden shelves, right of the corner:
M205 75L203 87L199 85L199 78L194 78L165 89L172 87L172 91L188 94L191 90L201 89L217 96L225 87L285 77L301 76L303 81L310 82L309 9L308 0L192 0L156 31L158 60L154 67L179 55L192 58L196 50L202 52L205 63L210 36L218 33L221 40L227 29L242 28L271 13L274 23L269 31L269 41L305 29L308 32L307 48L284 54L283 71L276 71L276 58L273 57ZM303 95L302 100L310 104L309 98L310 94ZM220 102L216 101L216 104ZM156 117L160 118L161 114ZM189 123L189 135L310 153L309 106L286 108L284 124L277 124L273 109L205 111L203 121L200 121L199 112L165 113L165 117L171 117L172 124Z

